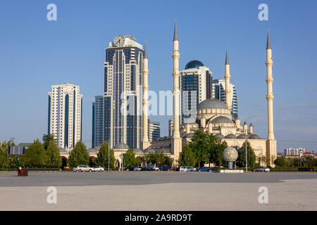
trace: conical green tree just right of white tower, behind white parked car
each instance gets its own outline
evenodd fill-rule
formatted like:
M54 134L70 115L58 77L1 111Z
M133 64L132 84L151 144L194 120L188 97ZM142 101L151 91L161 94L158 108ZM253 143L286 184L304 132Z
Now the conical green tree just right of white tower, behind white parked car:
M89 165L89 153L82 141L78 141L75 148L70 152L68 158L68 165L70 169L77 167L78 165Z

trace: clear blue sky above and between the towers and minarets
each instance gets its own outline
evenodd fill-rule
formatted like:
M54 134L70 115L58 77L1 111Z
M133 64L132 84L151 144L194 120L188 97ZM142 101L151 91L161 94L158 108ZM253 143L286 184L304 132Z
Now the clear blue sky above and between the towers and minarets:
M57 6L57 21L46 6ZM258 6L268 4L268 21ZM52 84L81 86L83 141L91 145L92 101L103 92L103 63L116 34L132 35L149 54L151 90L173 88L173 28L178 20L180 69L200 60L223 78L228 46L239 115L267 136L266 32L273 49L278 151L317 152L316 1L1 1L0 140L31 142L47 132ZM151 117L168 134L168 116Z

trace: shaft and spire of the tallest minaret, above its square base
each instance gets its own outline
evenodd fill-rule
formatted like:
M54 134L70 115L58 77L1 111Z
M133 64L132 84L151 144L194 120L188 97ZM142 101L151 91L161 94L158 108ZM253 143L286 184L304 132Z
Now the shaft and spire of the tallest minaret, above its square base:
M176 27L175 20L175 28L174 28L174 39L173 39L173 95L174 95L174 131L173 137L180 137L180 52L178 46L178 29Z

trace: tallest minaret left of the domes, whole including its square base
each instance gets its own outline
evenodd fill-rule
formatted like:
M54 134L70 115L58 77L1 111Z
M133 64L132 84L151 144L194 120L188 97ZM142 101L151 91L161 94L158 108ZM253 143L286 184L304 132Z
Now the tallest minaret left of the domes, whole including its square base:
M178 30L174 29L173 39L173 95L174 95L174 126L173 137L171 140L172 154L174 155L173 166L178 166L178 160L180 158L180 152L182 151L182 138L180 137L180 69L179 60L180 52L178 51Z

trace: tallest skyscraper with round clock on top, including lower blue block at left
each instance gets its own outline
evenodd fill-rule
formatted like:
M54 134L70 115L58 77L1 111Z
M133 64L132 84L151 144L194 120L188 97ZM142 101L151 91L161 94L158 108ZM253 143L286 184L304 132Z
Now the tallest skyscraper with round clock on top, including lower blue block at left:
M131 36L117 35L109 43L103 103L99 108L99 98L93 103L92 147L110 140L111 148L121 141L141 148L143 56L142 45Z

